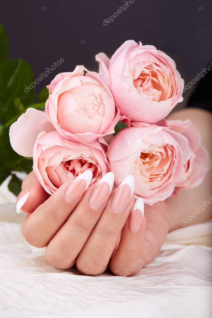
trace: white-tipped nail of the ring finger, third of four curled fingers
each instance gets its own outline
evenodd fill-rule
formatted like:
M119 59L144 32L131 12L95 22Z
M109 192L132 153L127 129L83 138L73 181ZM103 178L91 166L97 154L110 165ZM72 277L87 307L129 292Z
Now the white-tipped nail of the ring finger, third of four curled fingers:
M116 189L110 207L115 213L122 213L129 204L135 187L133 175L127 176Z

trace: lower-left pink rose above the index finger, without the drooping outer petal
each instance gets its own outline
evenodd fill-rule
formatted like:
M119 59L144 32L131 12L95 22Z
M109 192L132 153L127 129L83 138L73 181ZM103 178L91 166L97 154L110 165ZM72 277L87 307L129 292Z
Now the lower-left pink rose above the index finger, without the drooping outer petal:
M46 192L52 194L85 170L93 173L92 185L109 171L109 166L99 141L83 144L52 131L38 136L33 149L33 170Z

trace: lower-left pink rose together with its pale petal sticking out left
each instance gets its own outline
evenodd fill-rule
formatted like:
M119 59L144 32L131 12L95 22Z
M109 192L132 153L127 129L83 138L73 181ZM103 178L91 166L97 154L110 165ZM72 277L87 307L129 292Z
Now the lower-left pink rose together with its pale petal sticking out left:
M33 156L33 170L49 194L60 185L91 170L93 184L108 171L105 150L98 140L83 144L65 139L45 112L28 108L10 127L10 143L21 156Z

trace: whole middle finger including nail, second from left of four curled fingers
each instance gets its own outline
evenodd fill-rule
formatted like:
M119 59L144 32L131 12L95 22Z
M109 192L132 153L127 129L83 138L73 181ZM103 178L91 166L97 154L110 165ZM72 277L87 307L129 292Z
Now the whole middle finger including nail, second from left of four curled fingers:
M110 197L113 182L114 175L113 173L108 172L100 179L99 183L90 187L85 192L71 216L56 233L46 248L45 256L51 265L61 269L73 266L77 255L83 248L106 206L106 198L108 200ZM106 186L104 183L106 183ZM102 184L104 187L99 187L99 185ZM96 198L92 203L95 210L92 209L88 203L89 198L91 197ZM99 209L97 209L97 207L99 207Z

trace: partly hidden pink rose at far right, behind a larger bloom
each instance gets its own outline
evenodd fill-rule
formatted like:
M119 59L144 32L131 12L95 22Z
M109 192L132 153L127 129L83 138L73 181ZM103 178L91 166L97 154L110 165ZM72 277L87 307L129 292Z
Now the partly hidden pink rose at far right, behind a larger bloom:
M175 184L174 194L179 188L194 188L200 185L210 169L211 160L207 150L201 145L201 135L188 119L186 121L167 121L169 129L188 139L191 157L184 164L184 173Z

